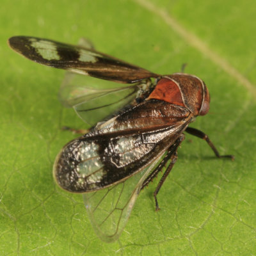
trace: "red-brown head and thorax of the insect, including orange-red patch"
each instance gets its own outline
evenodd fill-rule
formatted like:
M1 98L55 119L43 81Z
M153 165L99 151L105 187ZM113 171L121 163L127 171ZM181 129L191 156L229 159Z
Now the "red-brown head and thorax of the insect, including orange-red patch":
M206 115L210 107L210 95L204 81L184 73L163 76L148 99L164 100L183 106L195 116Z

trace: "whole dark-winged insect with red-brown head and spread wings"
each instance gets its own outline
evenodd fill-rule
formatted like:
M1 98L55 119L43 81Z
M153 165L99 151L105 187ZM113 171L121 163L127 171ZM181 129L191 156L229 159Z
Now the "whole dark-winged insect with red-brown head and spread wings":
M68 71L61 100L92 128L61 149L53 175L66 191L84 193L90 220L104 241L118 239L141 189L165 168L154 191L159 209L157 193L177 160L184 132L205 140L216 157L234 159L221 156L204 132L188 127L209 111L209 92L200 78L161 76L95 51L87 42L84 47L13 36L9 44L30 60ZM92 80L81 86L75 73ZM99 88L90 87L95 82Z

